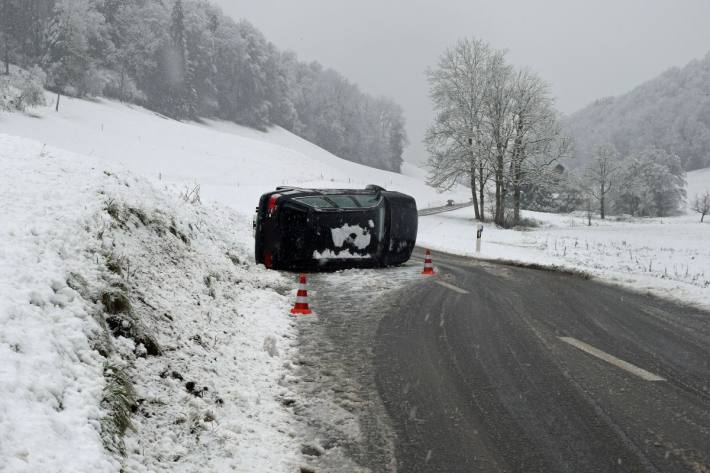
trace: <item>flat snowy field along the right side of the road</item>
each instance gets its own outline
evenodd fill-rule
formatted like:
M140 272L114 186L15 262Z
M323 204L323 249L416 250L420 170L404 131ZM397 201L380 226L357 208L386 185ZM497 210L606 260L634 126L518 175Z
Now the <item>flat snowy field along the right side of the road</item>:
M479 257L583 271L710 308L710 223L700 224L696 215L625 222L594 219L591 227L581 214L523 215L540 226L513 231L484 225ZM473 208L422 217L417 244L475 256L476 225Z

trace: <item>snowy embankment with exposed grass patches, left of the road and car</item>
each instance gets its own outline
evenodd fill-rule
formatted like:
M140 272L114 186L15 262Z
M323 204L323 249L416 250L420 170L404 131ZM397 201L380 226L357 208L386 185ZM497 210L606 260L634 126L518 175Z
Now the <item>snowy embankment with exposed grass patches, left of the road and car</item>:
M293 469L292 284L248 219L1 134L0 166L0 469Z

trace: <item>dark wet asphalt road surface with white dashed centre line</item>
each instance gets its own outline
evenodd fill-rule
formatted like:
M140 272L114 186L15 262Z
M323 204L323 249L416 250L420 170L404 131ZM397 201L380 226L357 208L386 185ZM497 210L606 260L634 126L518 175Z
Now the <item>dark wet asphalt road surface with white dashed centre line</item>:
M398 471L710 472L710 314L561 273L434 265L375 335Z

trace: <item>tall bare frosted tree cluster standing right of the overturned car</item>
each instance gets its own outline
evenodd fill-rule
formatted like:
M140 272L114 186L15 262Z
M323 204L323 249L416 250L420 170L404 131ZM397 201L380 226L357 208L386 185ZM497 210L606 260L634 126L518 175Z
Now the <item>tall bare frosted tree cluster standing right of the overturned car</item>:
M471 187L476 218L484 218L486 185L495 187L494 220L520 219L523 188L549 177L568 148L548 87L529 71L516 71L505 53L478 40L447 49L429 73L434 124L425 143L431 155L430 184Z

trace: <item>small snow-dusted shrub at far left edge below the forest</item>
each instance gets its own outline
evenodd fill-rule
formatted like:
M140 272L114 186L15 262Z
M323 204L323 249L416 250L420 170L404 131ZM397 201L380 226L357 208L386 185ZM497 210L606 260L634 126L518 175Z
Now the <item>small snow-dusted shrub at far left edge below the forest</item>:
M0 76L0 110L24 112L29 107L45 104L46 76L39 67L26 71L14 69Z

